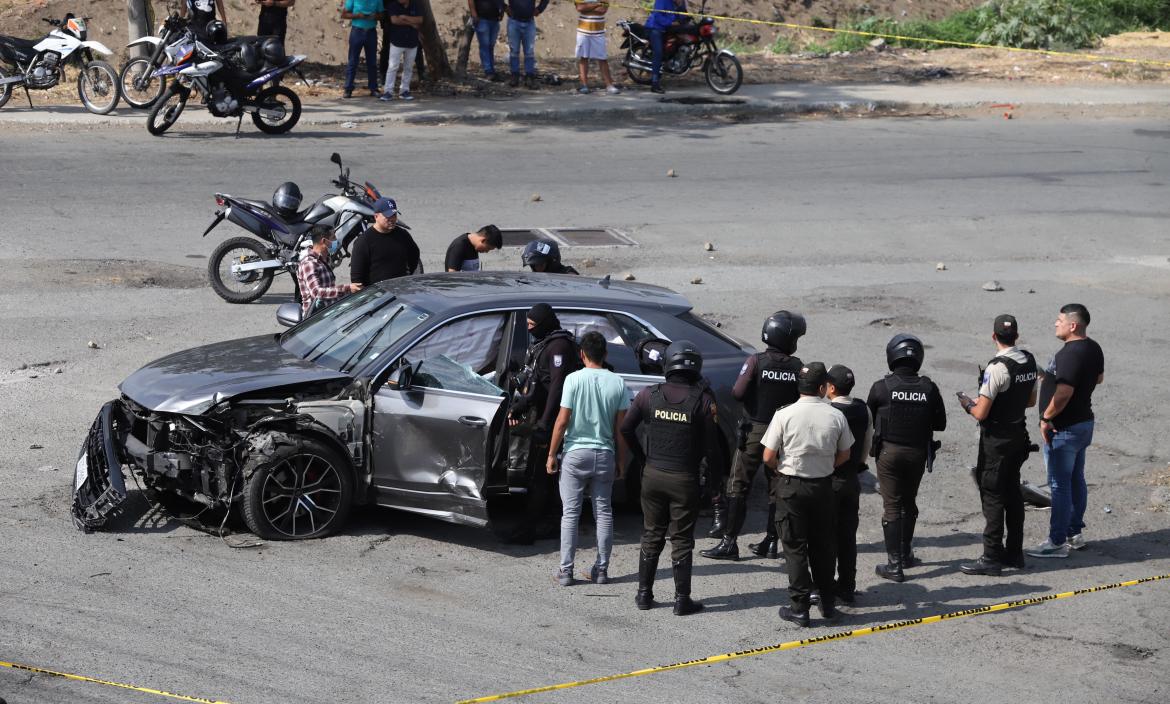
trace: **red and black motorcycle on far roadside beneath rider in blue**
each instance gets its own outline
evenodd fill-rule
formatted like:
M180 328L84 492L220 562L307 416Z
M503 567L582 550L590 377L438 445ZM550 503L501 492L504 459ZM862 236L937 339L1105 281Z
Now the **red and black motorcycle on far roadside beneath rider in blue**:
M698 13L707 9L704 0ZM649 85L653 51L651 50L651 30L638 22L620 21L625 39L621 48L626 50L621 65L634 83ZM682 76L690 69L702 65L707 85L720 95L731 95L739 90L743 83L743 67L735 54L715 46L715 20L702 18L696 25L683 25L672 29L666 35L662 47L662 73L670 76Z

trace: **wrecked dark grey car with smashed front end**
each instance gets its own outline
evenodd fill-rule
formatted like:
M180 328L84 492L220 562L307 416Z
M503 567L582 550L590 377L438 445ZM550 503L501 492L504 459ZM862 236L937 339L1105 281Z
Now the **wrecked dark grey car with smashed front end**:
M256 536L304 539L378 504L469 525L523 492L507 470L507 412L528 347L525 312L610 341L632 391L661 380L636 351L690 339L722 407L750 346L669 290L560 275L431 275L370 287L282 334L153 361L105 403L77 458L73 516L117 515L126 475L166 506L233 511ZM288 304L287 304L288 305ZM292 315L282 306L278 317ZM724 449L731 417L721 413Z

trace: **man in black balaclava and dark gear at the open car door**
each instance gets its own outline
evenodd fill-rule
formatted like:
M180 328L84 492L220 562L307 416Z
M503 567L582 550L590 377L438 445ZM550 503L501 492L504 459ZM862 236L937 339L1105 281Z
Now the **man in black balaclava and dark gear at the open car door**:
M559 534L557 517L549 511L549 499L556 492L557 479L543 468L548 462L552 425L560 412L560 389L565 377L580 366L573 336L560 329L560 320L549 304L537 303L529 309L528 331L532 344L508 420L508 474L531 477L524 517L508 538L509 543L518 545L530 545L538 537L555 538Z

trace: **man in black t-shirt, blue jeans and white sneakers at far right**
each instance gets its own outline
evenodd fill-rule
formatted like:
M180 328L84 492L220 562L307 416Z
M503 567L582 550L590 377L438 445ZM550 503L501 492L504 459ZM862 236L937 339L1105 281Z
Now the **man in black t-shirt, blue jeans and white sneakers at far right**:
M1067 558L1069 548L1085 547L1085 451L1093 443L1093 391L1104 380L1104 353L1087 334L1088 309L1069 303L1054 325L1065 346L1044 371L1040 388L1052 515L1048 539L1025 551L1034 558Z

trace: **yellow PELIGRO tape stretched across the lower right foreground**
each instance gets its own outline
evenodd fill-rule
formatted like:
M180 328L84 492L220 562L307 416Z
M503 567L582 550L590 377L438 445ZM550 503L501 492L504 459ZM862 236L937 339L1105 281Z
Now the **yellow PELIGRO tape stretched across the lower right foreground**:
M546 686L537 686L534 689L522 689L514 692L505 692L502 695L490 695L487 697L477 697L475 699L462 699L456 704L479 704L481 702L498 702L500 699L509 699L512 697L523 697L526 695L536 695L541 692L551 692L562 689L571 689L574 686L584 686L586 684L598 684L601 682L613 682L615 679L626 679L629 677L641 677L642 675L654 675L658 672L666 672L668 670L681 670L682 668L693 668L695 665L710 665L718 662L727 662L729 660L738 660L741 657L755 657L757 655L764 655L766 653L777 653L780 650L792 650L794 648L804 648L805 646L815 646L817 643L827 643L830 641L844 641L847 639L856 639L863 635L873 635L875 633L886 633L889 630L900 630L902 628L913 628L915 626L925 626L927 623L937 623L940 621L949 621L950 619L962 619L964 616L977 616L979 614L990 614L994 612L1002 612L1010 608L1019 608L1021 606L1031 606L1033 603L1044 603L1045 601L1054 601L1057 599L1067 599L1069 596L1079 596L1081 594L1092 594L1094 592L1103 592L1106 589L1116 589L1120 587L1131 587L1134 585L1142 585L1145 582L1158 581L1163 579L1170 579L1170 574L1159 574L1157 577L1147 577L1143 579L1134 579L1130 581L1122 581L1112 585L1102 585L1100 587L1088 587L1086 589L1075 589L1073 592L1061 592L1059 594L1047 594L1045 596L1033 596L1030 599L1020 599L1019 601L1006 601L1004 603L997 603L994 606L979 606L975 608L968 608L959 612L951 612L949 614L941 614L937 616L924 616L922 619L908 619L906 621L894 621L892 623L882 623L880 626L870 626L869 628L859 628L854 630L841 630L838 633L831 633L823 636L817 636L812 639L804 639L800 641L789 641L786 643L777 643L775 646L763 646L760 648L752 648L750 650L737 650L736 653L724 653L722 655L710 655L707 657L700 657L697 660L688 660L683 662L676 662L669 665L659 665L655 668L645 668L641 670L634 670L633 672L622 672L620 675L605 675L603 677L592 677L590 679L578 679L577 682L565 682L563 684L550 684Z

